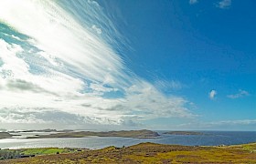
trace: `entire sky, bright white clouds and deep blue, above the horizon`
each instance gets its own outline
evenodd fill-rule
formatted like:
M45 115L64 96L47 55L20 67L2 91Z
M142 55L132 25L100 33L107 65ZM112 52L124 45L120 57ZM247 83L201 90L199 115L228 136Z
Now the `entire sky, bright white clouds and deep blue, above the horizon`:
M253 0L0 0L0 128L256 130Z

